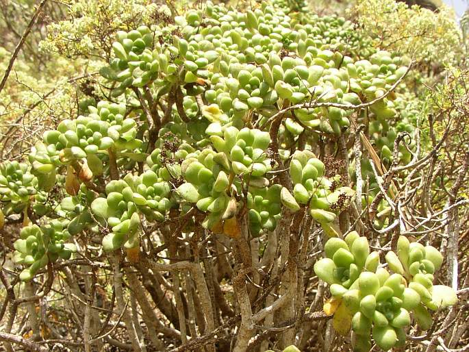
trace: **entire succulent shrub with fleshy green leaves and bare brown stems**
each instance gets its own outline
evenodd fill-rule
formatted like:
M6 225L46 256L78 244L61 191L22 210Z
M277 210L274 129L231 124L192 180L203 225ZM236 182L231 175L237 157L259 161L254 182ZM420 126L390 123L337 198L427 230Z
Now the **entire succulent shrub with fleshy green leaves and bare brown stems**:
M123 284L138 293L140 277L127 270L144 255L145 268L168 271L164 280L175 280L165 286L181 288L181 297L173 294L168 302L162 301L162 314L173 326L166 331L170 339L165 335L160 341L149 324L148 331L136 331L137 338L129 335L137 350L140 337L148 332L151 338L145 340L145 348L157 349L162 342L177 340L175 329L183 335L181 343L186 340L184 322L170 316L172 309L164 312L167 305L175 303L180 312L187 303L189 315L195 312L194 324L204 325L189 325L191 341L197 340L197 331L210 334L216 320L226 320L231 308L220 305L199 316L199 303L205 306L220 298L218 294L231 294L218 288L225 281L225 288L236 294L236 299L227 299L235 312L240 312L242 296L252 303L256 294L268 294L262 289L272 289L272 300L257 299L253 314L241 310L241 326L228 327L227 334L243 332L249 320L262 324L265 314L285 321L301 318L303 299L281 302L292 296L290 290L308 292L308 282L316 287L314 275L305 271L302 279L301 272L316 256L308 247L314 236L316 244L324 243L325 257L313 269L318 287L324 284L329 289L323 312L333 316L333 329L342 336L351 333L353 351L370 351L373 344L385 351L403 348L414 325L430 329L432 312L457 303L453 288L433 284L444 258L422 242L428 234L415 242L401 236L394 251L379 248L389 236L396 236L390 232L396 228L388 227L396 209L385 194L366 214L367 205L384 192L379 187L384 168L419 156L415 152L420 146L407 137L419 136L413 125L423 120L420 114L427 108L418 105L411 92L420 77L416 75L411 87L396 88L407 74L407 57L381 50L377 41L364 38L345 18L314 14L305 0L257 1L242 9L219 2L205 1L178 13L172 8L168 15L151 3L149 13L117 22L118 29L125 30L116 32L114 42L107 42L107 34L99 36L103 57L109 60L99 70L101 77L81 87L79 94L86 97L77 97L77 116L62 118L57 126L52 125L55 118L48 121L50 130L33 143L29 163L0 164L0 229L8 231L23 222L19 238L14 238L13 259L21 266L16 276L29 281L46 267L56 271L52 263L70 259L79 250L75 244L101 242L80 254L90 262L98 258L114 264L93 265L93 271L114 271L113 299L123 313L123 324L134 334L131 315L141 311L148 323L153 312L146 314L147 294L137 295L127 312ZM81 16L79 3L71 8ZM144 22L147 25L140 25ZM94 41L92 36L85 39ZM101 88L99 95L88 90L94 83ZM97 101L99 97L109 101ZM446 106L445 101L435 103ZM349 127L364 148L351 147L354 136ZM393 155L402 132L407 136ZM353 189L355 157L362 159L366 180L360 192L362 214L354 207L360 208ZM419 170L422 165L418 163ZM397 169L392 170L391 198L402 179L414 175L409 168ZM418 176L409 177L415 179ZM444 181L451 177L435 182L442 186ZM409 197L418 197L420 189L414 192ZM411 200L406 200L409 212ZM381 231L386 236L372 238L376 231L342 236L353 221L360 223L366 215L374 223L360 225L360 231L372 225L388 227ZM217 253L219 244L225 253ZM231 249L233 253L227 253ZM166 256L157 255L166 250ZM185 259L177 263L181 257ZM81 260L63 264L81 265ZM120 279L121 267L127 280ZM251 271L256 267L258 271ZM261 268L267 268L268 275ZM278 280L269 282L270 274ZM48 278L53 276L48 273ZM246 290L244 280L251 278L246 283L252 287ZM173 302L172 297L177 299ZM310 318L316 314L308 314ZM294 325L281 331L281 348L292 343L288 341L293 341ZM250 346L254 333L251 327L244 329L234 349ZM213 341L205 342L210 349ZM262 346L272 342L264 340ZM294 345L283 349L299 351Z

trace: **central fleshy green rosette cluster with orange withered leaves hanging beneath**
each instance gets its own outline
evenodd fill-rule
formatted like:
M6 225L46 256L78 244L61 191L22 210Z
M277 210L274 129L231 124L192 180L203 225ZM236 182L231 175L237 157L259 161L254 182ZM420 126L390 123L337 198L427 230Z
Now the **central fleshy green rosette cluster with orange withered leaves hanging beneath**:
M196 203L199 210L209 213L203 226L217 231L221 228L220 221L236 217L240 206L237 198L242 195L243 187L249 186L247 201L257 207L257 210L251 208L249 212L253 235L258 236L261 227L275 228L275 216L279 210L270 202L275 201L278 188L272 186L265 194L260 191L269 185L264 177L271 169L270 159L265 153L270 144L269 134L246 127L241 130L233 126L223 127L220 123L209 125L206 133L215 151L203 149L186 155L181 163L186 183L177 188L181 198ZM252 192L257 189L259 194L256 198Z

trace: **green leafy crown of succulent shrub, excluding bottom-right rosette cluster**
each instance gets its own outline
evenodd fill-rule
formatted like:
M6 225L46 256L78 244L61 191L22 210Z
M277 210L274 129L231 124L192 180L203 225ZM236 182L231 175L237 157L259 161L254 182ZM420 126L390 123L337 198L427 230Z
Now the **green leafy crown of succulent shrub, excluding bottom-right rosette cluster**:
M114 57L100 73L111 82L119 103L94 106L87 99L80 105L86 116L65 119L45 132L29 154L30 171L29 166L14 166L23 179L19 171L14 181L6 179L8 187L0 179L0 201L8 202L3 213L10 214L11 207L21 211L31 200L36 214L54 212L66 220L70 234L106 229L107 251L122 245L136 249L140 221L163 221L171 209L184 212L188 204L205 213L204 227L217 233L236 234L231 230L239 225L236 218L244 204L252 236L272 231L283 204L294 212L307 209L327 235L338 236L336 218L355 194L326 177L324 164L311 150L319 136L343 134L353 106L381 97L406 68L397 55L369 45L358 60L355 54L362 48L351 23L309 14L304 5L274 1L240 12L208 1L203 10L176 16L174 24L117 32ZM149 91L142 93L142 88ZM153 101L168 97L153 142L153 131L147 130L154 116L140 102L140 94L149 92ZM325 105L309 107L310 102ZM271 173L278 165L264 129L289 105L296 108L283 116L277 144L292 179L291 193ZM385 126L392 125L396 108L386 97L370 111ZM288 142L306 130L305 150L290 155ZM392 143L391 129L389 134L383 138ZM379 143L385 153L388 144ZM96 185L91 192L92 182L110 175L111 153L127 175L101 184L105 192ZM51 207L45 194L56 182L71 197ZM354 270L344 266L340 282Z

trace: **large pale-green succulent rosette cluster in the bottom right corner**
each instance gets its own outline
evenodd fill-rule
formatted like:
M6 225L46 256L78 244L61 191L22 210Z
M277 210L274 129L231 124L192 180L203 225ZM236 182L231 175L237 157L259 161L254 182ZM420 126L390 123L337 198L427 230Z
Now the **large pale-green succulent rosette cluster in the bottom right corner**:
M340 327L348 321L347 316L351 316L351 329L357 335L354 351L370 350L370 334L385 351L403 346L404 329L411 324L410 313L422 329L429 329L432 318L426 307L436 310L457 302L451 288L433 286L433 272L442 264L441 254L431 246L420 246L416 242L411 245L407 238L401 236L398 253L405 258L406 266L401 264L398 255L388 251L385 259L390 270L394 271L391 274L379 267L378 253L370 253L368 240L359 237L357 232L352 231L344 240L327 240L324 247L326 257L314 264L314 272L330 285L335 307L341 307L331 311L326 303L325 312L338 314L338 318L334 318L341 322ZM418 263L420 271L407 281L409 263ZM429 269L433 269L432 274L427 274ZM338 332L346 335L348 329L339 328Z

